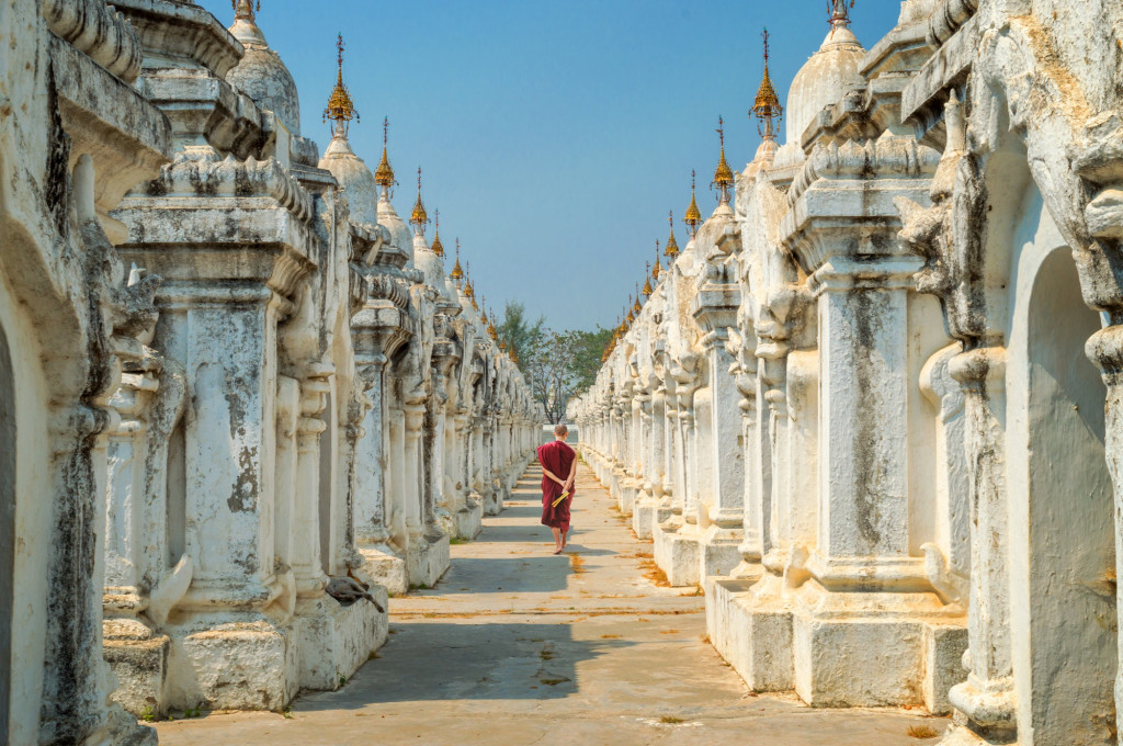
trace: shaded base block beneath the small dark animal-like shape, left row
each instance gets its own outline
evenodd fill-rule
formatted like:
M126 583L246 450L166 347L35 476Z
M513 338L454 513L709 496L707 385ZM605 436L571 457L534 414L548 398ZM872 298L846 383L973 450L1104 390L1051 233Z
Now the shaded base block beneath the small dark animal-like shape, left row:
M371 586L386 608L386 590ZM327 594L296 601L293 636L300 655L300 685L336 690L386 642L387 620L373 603L340 606Z

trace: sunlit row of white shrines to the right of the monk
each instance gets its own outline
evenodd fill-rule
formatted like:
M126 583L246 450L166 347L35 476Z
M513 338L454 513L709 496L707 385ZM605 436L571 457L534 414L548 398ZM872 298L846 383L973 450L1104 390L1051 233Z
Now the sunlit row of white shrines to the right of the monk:
M836 2L570 404L755 690L1116 743L1123 10L1072 10L909 0L866 52Z

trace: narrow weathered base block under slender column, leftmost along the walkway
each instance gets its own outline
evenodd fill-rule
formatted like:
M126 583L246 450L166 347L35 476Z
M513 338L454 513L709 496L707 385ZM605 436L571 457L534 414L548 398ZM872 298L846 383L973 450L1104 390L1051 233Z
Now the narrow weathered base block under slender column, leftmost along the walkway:
M135 717L167 713L164 684L171 639L137 619L106 619L102 655L117 675L115 702Z

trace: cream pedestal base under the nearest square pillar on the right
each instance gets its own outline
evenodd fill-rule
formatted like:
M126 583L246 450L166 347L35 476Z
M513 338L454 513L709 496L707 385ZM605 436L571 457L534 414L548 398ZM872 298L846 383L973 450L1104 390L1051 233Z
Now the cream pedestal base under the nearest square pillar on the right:
M924 704L925 679L947 680L949 658L962 655L966 636L947 630L931 637L929 651L931 625L957 626L955 610L933 593L831 593L810 581L797 594L795 691L812 707ZM934 671L928 665L930 652ZM926 685L933 702L947 697L946 690L934 691L934 683Z

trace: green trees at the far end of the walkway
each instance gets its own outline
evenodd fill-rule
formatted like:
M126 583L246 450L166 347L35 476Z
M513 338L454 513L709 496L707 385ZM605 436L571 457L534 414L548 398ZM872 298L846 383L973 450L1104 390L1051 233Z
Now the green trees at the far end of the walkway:
M531 324L522 303L508 301L503 321L495 331L517 353L519 369L535 398L556 424L565 417L569 399L593 385L601 367L601 356L612 339L612 329L595 331L546 328L541 317Z

